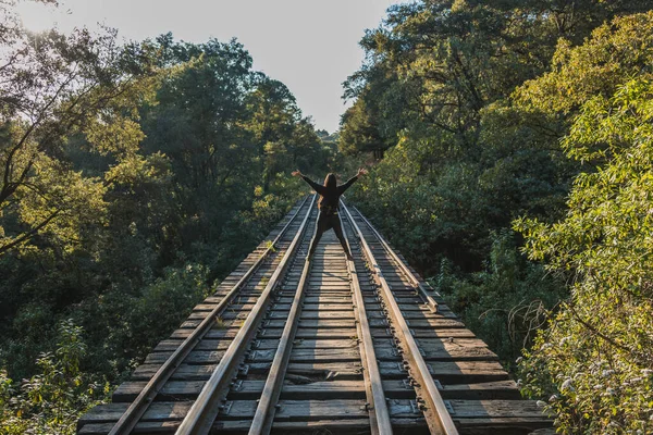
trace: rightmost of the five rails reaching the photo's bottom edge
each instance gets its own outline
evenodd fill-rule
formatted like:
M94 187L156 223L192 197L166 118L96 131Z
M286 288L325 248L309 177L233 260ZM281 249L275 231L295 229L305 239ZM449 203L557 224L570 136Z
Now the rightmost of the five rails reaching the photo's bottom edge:
M387 314L390 315L395 331L397 332L397 338L404 350L403 356L409 363L412 377L418 382L418 389L422 391L423 396L426 396L423 399L426 400L427 406L426 409L423 409L423 412L427 424L429 425L429 430L432 434L457 435L458 430L456 428L456 425L446 409L446 405L444 403L444 400L438 390L438 386L435 385L435 382L429 372L429 368L420 353L419 347L415 341L415 337L412 337L412 334L410 333L410 328L408 327L408 324L402 314L402 310L399 309L399 306L392 294L387 281L383 276L381 268L379 268L379 264L377 264L377 260L372 253L372 250L370 249L365 236L362 235L362 232L360 231L360 227L352 216L352 213L344 202L342 202L342 206L347 213L352 226L358 235L361 247L364 248L370 264L374 269L374 273L379 279L379 284L381 285L383 300L386 307L390 308ZM360 213L358 214L362 217ZM369 223L368 225L371 227Z

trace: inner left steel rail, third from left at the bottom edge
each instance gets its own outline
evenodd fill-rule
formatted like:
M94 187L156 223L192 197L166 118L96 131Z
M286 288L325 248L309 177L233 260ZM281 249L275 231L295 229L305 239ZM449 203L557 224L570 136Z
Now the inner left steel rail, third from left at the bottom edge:
M313 228L312 237L316 236L318 225ZM279 340L279 347L274 353L274 360L270 368L270 373L266 380L263 391L259 399L256 408L256 413L249 427L249 435L268 435L272 430L272 423L274 422L274 414L276 413L276 402L281 396L281 389L283 387L283 381L285 378L288 362L291 361L291 350L293 349L293 341L297 334L297 327L299 324L299 316L301 315L301 308L304 306L304 296L306 295L306 281L310 271L310 262L304 259L304 268L301 269L301 276L297 284L297 291L293 298L293 304L286 324L283 328L283 334Z

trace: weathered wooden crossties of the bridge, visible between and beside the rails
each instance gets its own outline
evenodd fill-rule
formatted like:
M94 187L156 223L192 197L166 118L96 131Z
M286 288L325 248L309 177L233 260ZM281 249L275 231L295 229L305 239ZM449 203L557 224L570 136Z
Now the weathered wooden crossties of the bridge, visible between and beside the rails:
M282 221L285 224L287 216ZM358 222L359 225L361 224ZM280 224L281 225L281 224ZM267 240L274 238L279 226ZM366 235L367 238L367 235ZM308 248L305 240L298 256ZM369 241L373 243L373 241ZM157 345L128 382L113 394L113 403L102 405L84 415L78 423L81 434L107 434L113 422L151 380L158 368L192 333L207 313L226 295L267 247L263 241L217 288L214 295L197 304L188 319ZM285 245L287 248L287 244ZM534 402L519 400L516 384L497 362L496 355L478 339L433 293L439 303L432 312L417 295L409 279L397 272L394 260L375 246L379 266L383 271L402 315L415 337L430 375L440 394L454 410L452 414L464 434L527 434L551 427ZM360 252L355 249L355 258ZM403 257L399 256L403 260ZM134 433L172 434L198 397L218 362L224 356L239 326L251 313L261 290L278 261L271 261L252 275L252 281L235 297L229 309L215 319L211 328L159 391ZM244 433L249 428L264 381L287 321L291 303L300 276L303 261L295 261L258 333L248 345L235 382L225 391L225 408L213 423L213 430ZM273 432L312 434L322 428L331 433L358 434L369 431L370 412L366 409L366 384L359 332L352 297L352 281L340 244L326 233L312 261L306 296L298 321L291 358L281 389ZM365 263L356 260L361 300L370 325L370 336L382 388L395 433L411 435L427 432L427 423L409 383L410 369L395 341L395 331L387 320L377 284ZM418 276L422 285L427 283Z

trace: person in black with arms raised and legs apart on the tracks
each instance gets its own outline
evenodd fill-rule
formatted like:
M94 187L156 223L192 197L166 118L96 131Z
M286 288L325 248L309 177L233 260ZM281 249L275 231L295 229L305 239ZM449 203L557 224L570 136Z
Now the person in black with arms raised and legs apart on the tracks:
M359 169L358 174L349 178L347 183L338 186L335 181L335 175L332 173L326 174L326 177L324 178L324 185L321 185L304 175L299 170L293 172L293 176L300 176L304 178L304 181L320 195L320 202L318 202L318 208L320 209L320 215L318 217L318 232L310 244L310 249L308 250L307 257L308 260L310 260L316 252L316 248L318 247L320 238L322 238L322 234L329 228L333 228L337 239L345 250L345 253L347 254L347 260L352 260L352 252L349 252L349 249L347 249L347 243L343 236L343 228L341 227L337 209L341 195L343 195L360 175L365 175L367 173L367 170Z

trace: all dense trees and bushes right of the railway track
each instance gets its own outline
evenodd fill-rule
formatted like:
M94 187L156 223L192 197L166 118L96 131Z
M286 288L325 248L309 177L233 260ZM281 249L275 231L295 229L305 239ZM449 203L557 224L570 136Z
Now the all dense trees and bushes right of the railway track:
M345 84L355 200L562 433L653 433L652 7L394 7Z

